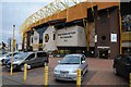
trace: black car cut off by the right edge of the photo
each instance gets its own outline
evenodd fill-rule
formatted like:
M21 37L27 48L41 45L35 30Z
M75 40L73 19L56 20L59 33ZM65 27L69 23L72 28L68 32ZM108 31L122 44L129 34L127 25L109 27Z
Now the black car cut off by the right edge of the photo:
M131 55L120 54L114 60L114 73L129 79L131 73Z

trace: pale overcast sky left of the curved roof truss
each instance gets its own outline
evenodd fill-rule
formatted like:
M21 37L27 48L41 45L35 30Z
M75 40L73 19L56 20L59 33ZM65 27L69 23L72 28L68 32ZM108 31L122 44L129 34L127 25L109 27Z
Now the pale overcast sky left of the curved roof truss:
M15 25L15 38L20 42L20 26L29 15L51 1L53 0L2 0L0 2L0 40L7 42L8 38L12 38L13 25Z

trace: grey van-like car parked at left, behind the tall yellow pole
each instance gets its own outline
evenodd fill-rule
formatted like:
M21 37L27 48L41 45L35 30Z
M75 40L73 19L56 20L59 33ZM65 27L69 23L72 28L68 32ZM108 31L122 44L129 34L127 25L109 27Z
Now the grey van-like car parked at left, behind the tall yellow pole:
M48 54L46 52L23 52L13 59L13 70L24 71L24 64L27 63L28 69L48 64ZM11 60L5 65L11 69Z

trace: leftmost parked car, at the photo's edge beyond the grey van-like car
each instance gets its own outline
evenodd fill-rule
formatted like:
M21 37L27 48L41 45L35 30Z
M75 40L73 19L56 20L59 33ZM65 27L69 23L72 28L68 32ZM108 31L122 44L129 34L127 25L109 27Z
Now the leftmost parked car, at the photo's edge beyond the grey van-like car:
M19 54L19 53L21 53L21 52L13 52L13 57L14 57L15 54ZM12 58L12 52L3 55L3 58L1 59L2 65L5 65L5 64L8 63L8 61L11 60L11 58Z

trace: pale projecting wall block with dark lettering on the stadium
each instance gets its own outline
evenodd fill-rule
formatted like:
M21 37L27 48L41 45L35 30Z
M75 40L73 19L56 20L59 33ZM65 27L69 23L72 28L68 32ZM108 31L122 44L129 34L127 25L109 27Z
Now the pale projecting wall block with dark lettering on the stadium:
M58 47L86 47L85 30L81 26L64 27L57 30Z

